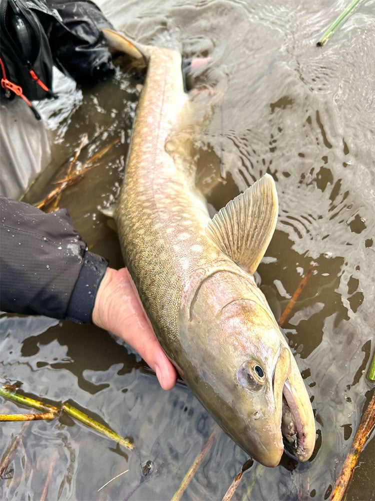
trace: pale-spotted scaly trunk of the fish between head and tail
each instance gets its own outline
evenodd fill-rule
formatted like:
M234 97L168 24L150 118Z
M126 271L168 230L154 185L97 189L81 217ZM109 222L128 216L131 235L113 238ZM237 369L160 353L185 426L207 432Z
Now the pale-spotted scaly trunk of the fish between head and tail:
M178 347L170 350L170 340L178 343L182 284L206 265L199 249L208 244L219 254L205 236L207 210L196 210L200 200L192 191L193 171L187 176L165 150L178 109L187 107L180 68L178 53L151 51L115 215L125 264L162 346L173 353ZM176 69L179 79L169 78ZM186 233L188 238L179 239Z

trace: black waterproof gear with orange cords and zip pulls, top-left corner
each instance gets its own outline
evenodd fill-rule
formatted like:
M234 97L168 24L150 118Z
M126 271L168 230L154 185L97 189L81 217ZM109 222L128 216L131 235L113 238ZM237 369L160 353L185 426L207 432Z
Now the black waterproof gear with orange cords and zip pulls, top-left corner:
M0 0L1 93L28 101L53 96L53 63L81 84L113 76L102 28L113 29L89 0Z

